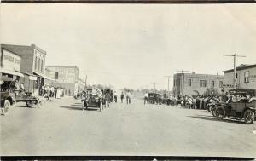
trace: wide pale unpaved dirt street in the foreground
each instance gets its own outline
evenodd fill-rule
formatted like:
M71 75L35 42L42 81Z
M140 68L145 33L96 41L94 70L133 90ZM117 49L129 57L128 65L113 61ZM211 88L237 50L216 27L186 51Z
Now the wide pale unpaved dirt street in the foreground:
M203 110L118 102L81 110L71 97L1 116L1 155L256 157L256 124L219 121Z

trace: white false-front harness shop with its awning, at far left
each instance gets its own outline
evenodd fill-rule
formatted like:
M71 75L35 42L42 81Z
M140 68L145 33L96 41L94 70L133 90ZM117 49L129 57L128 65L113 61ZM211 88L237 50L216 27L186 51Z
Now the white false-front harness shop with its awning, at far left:
M24 78L24 75L20 72L20 55L16 55L14 52L8 49L1 48L1 66L0 75L12 78L13 80L20 80Z

